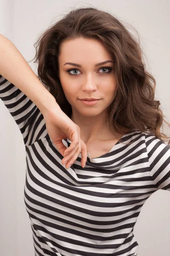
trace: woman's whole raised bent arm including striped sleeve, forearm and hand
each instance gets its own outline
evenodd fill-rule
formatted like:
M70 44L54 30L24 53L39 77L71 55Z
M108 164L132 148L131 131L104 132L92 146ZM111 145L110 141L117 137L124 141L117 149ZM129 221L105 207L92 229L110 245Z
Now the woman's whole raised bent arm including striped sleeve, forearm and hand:
M47 130L59 153L62 156L68 153L62 159L62 164L66 160L68 168L81 153L81 164L84 167L87 161L87 146L80 138L80 128L61 110L54 96L42 85L14 44L1 34L0 75L1 99L16 120L25 145L29 146L45 137ZM4 81L4 78L7 81ZM15 90L14 86L20 92ZM34 105L40 111L37 111ZM71 140L68 148L62 143L66 138Z

